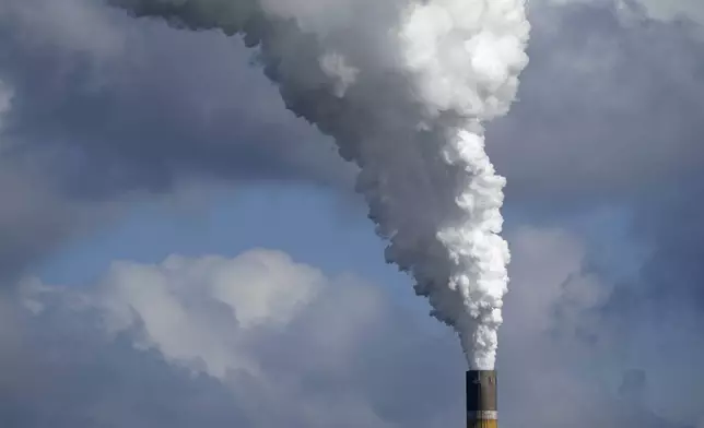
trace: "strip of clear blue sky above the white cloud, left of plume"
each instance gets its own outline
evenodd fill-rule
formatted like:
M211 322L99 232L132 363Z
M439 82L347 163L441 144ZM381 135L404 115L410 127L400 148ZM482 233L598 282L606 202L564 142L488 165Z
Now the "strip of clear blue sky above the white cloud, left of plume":
M384 243L357 203L320 187L277 183L221 189L183 204L143 201L109 227L66 242L39 272L50 283L84 284L116 259L157 263L173 253L234 257L267 248L330 274L360 272L394 288L408 285L384 263Z

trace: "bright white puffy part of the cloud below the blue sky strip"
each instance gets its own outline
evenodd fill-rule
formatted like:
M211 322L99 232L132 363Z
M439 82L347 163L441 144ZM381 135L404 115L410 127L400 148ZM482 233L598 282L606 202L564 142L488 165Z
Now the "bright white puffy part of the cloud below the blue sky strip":
M102 308L112 334L139 328L141 348L225 379L230 370L259 376L246 343L292 322L326 281L277 251L232 260L173 255L159 265L116 262L84 298Z

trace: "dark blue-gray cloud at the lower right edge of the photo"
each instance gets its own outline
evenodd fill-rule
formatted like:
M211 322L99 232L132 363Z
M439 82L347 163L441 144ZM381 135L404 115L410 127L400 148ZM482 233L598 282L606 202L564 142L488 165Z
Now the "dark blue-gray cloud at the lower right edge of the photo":
M642 268L613 281L611 293L589 311L598 322L587 331L596 346L610 349L625 365L667 368L648 372L648 383L678 391L661 399L662 405L691 417L681 396L704 406L704 377L694 369L704 359L704 177L688 178L667 195L636 205L630 231L634 247L644 249Z

